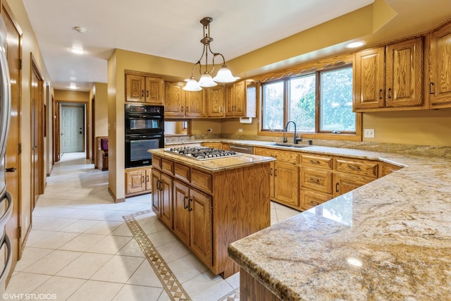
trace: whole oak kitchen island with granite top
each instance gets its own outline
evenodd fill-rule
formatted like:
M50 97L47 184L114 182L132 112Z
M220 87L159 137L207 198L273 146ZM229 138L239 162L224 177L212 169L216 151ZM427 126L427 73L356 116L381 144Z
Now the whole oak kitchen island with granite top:
M156 216L215 274L239 271L231 242L271 223L269 164L273 158L237 154L194 159L152 153L152 208Z

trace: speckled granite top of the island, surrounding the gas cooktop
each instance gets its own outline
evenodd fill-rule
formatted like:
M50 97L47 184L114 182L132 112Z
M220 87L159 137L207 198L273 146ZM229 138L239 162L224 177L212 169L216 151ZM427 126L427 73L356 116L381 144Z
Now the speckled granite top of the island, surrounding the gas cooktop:
M268 163L275 160L267 156L256 156L254 154L242 154L240 156L227 156L209 160L197 160L191 159L187 156L182 156L180 154L166 152L166 150L168 149L169 148L149 149L148 152L166 159L171 159L172 161L176 161L181 164L185 164L187 166L203 169L204 171L209 172L226 171L233 168L241 168L243 166Z

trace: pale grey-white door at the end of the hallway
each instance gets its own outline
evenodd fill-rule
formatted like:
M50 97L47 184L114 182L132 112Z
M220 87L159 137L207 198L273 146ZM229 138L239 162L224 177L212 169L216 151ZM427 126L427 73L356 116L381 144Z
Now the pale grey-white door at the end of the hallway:
M61 106L61 152L85 152L83 106Z

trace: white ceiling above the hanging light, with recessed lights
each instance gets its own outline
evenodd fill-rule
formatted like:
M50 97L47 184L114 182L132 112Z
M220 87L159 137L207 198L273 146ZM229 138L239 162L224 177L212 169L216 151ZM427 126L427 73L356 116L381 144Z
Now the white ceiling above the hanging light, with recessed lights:
M23 0L23 4L54 88L69 90L72 82L78 90L88 91L94 82L106 82L106 63L116 48L194 63L202 54L199 20L206 16L214 19L211 48L230 60L373 1ZM385 1L397 13L417 6L417 18L428 18L419 6L442 2L447 5L446 16L451 16L449 0ZM75 26L87 31L79 33ZM68 51L72 47L82 47L86 54L72 54Z

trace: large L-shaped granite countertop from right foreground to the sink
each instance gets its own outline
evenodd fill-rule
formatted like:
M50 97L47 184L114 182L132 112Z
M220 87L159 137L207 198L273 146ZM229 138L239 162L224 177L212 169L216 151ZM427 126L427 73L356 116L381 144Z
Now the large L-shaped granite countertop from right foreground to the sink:
M233 242L242 269L283 300L451 299L449 154L289 149L405 167Z

